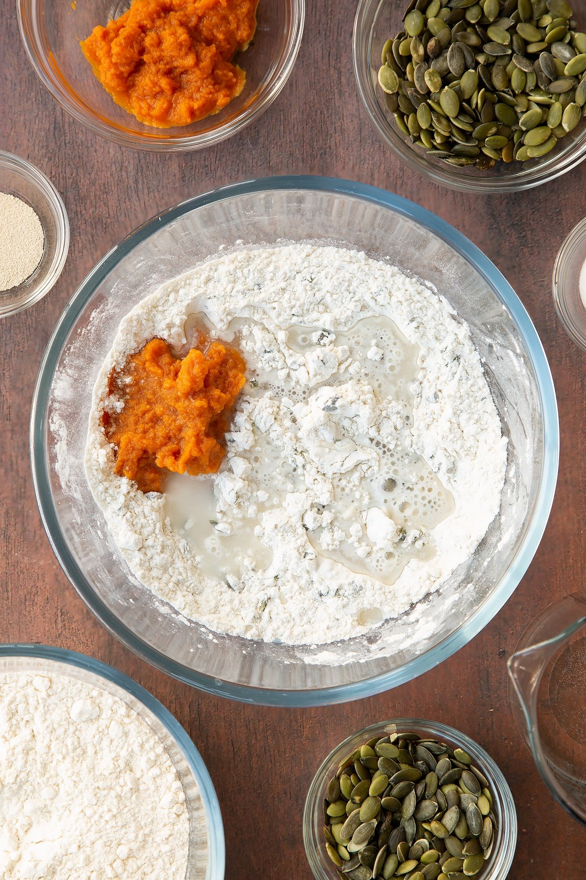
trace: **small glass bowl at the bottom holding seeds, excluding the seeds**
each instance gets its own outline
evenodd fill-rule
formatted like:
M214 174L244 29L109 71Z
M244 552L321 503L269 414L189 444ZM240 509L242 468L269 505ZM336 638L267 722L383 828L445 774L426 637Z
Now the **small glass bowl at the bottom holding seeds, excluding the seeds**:
M399 718L371 724L344 739L322 763L311 783L303 810L303 843L307 862L316 880L339 880L339 874L326 853L322 830L322 801L329 780L336 775L340 762L372 737L386 737L388 734L407 731L419 733L425 739L439 739L452 748L463 749L473 759L473 765L488 779L490 792L494 797L492 809L497 825L490 860L479 876L481 880L504 880L509 874L517 847L517 812L507 781L495 761L474 739L445 724L422 721L420 718Z

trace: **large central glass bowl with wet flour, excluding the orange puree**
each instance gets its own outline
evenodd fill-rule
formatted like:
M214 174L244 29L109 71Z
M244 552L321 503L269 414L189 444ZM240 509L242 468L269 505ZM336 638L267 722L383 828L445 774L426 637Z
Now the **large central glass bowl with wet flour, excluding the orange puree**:
M113 473L108 377L194 327L247 383L218 473ZM218 190L93 270L49 342L33 474L61 565L149 662L311 705L438 664L509 598L545 529L559 430L522 304L466 238L342 180Z

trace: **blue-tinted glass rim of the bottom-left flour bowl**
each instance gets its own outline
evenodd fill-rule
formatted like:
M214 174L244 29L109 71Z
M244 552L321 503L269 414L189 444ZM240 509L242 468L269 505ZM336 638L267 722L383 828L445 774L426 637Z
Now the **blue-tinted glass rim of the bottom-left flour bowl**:
M55 648L51 645L33 644L31 642L8 642L0 644L0 658L2 657L52 660L56 663L75 666L78 669L91 672L93 675L105 678L106 681L112 682L112 684L129 693L156 716L177 743L198 782L201 800L206 810L207 831L210 840L206 876L209 877L209 880L221 880L225 873L226 846L220 803L215 788L213 788L212 777L195 744L193 744L192 738L189 737L186 730L177 721L177 718L171 715L170 711L163 706L163 703L156 700L152 693L148 693L144 687L138 685L132 678L125 675L124 672L120 672L118 669L114 669L113 666L102 663L101 660L96 660L94 657L80 654L77 651ZM211 872L212 870L213 873Z

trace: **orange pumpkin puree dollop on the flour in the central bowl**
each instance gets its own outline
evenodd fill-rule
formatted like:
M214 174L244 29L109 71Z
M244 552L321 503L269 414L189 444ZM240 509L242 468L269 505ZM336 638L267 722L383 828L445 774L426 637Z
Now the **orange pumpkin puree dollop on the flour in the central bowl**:
M203 338L201 340L203 342ZM124 400L102 416L115 445L115 473L142 492L162 492L165 470L215 473L224 457L231 407L244 385L242 356L222 342L192 348L183 360L153 339L112 373L110 392Z

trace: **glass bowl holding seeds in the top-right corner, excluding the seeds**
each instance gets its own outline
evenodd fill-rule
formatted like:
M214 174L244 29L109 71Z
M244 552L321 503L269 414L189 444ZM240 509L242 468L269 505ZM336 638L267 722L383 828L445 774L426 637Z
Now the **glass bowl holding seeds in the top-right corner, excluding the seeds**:
M481 172L475 166L446 165L414 147L396 127L378 84L380 53L385 41L399 33L407 0L360 0L354 21L353 57L358 92L383 141L413 171L452 189L469 193L510 193L539 187L575 168L586 158L586 123L582 122L551 153L528 162L499 162ZM586 27L586 22L584 24ZM582 28L583 30L583 28Z

